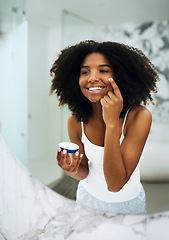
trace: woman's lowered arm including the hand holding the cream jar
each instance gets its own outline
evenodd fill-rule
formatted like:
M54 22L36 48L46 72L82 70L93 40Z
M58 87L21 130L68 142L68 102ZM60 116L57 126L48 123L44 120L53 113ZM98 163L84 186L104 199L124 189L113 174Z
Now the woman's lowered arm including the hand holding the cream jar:
M73 161L71 163L70 155L61 149L58 149L57 160L58 165L64 172L77 180L82 180L88 175L88 160L84 153L83 143L81 142L81 126L75 116L68 118L68 133L70 141L79 145L77 154L72 154Z

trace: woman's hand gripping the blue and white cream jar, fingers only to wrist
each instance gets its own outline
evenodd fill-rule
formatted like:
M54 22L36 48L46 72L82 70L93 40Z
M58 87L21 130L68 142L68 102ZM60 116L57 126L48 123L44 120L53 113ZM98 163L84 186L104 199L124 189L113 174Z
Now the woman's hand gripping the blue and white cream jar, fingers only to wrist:
M57 161L58 165L66 172L76 174L78 172L79 165L83 159L83 154L79 155L79 151L75 154L72 154L72 162L71 157L67 153L66 150L61 151L60 148L57 150Z

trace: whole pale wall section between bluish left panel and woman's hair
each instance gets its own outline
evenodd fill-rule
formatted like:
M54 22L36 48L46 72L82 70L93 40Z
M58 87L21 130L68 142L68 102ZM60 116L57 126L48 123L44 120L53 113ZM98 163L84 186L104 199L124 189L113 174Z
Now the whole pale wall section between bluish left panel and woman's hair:
M61 14L58 9L55 26L28 17L28 168L47 185L62 174L56 164L60 109L49 96L49 71L61 49Z

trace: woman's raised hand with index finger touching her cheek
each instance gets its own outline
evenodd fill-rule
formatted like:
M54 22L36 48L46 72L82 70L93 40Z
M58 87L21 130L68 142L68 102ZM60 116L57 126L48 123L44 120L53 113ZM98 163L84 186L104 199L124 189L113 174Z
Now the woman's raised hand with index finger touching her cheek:
M106 125L113 124L117 120L119 121L120 113L123 109L123 97L121 92L112 78L110 78L109 81L113 91L109 91L107 95L100 100L103 120Z

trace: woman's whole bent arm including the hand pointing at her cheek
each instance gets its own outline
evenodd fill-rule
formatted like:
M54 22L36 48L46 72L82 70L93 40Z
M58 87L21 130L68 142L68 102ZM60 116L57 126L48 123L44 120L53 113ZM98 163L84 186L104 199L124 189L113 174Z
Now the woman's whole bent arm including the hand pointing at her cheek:
M125 138L120 145L119 113L122 99L115 82L112 86L115 94L111 93L106 96L105 101L101 101L106 124L103 170L108 190L118 192L129 180L139 161L152 117L142 106L132 109L126 122Z

